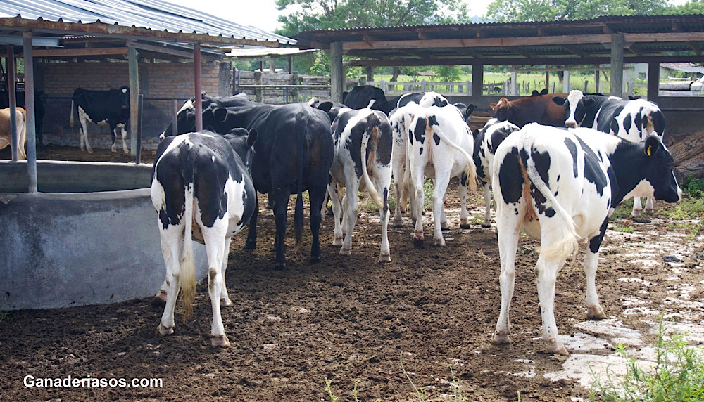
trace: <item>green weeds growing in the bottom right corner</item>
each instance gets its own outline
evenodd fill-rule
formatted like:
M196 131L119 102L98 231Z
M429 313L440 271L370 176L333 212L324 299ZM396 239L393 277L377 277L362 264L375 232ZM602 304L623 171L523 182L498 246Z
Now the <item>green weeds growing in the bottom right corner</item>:
M615 382L608 371L607 382L595 378L589 391L590 401L702 401L704 400L704 356L687 345L680 334L665 334L660 320L655 347L655 366L643 369L635 358L626 355L619 344L617 352L627 358L626 374ZM595 375L593 373L593 375Z

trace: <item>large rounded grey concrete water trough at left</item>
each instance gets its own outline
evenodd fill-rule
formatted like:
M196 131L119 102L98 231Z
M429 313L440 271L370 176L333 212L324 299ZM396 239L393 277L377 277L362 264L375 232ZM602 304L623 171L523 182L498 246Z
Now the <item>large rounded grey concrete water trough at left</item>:
M125 301L158 292L166 268L151 164L0 162L0 309ZM205 247L194 243L199 278Z

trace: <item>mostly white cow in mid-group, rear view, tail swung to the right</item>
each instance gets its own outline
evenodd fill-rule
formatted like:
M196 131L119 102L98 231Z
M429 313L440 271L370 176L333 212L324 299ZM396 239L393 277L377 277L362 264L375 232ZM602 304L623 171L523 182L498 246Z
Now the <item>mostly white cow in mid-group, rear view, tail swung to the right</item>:
M416 112L408 129L406 157L410 170L411 192L415 196L415 233L413 243L422 247L423 238L423 185L426 176L432 177L433 219L435 244L445 246L442 224L445 217L445 193L450 179L460 176L460 227L469 228L467 222L467 184L476 187L477 168L472 158L474 138L462 114L454 107L431 106ZM413 201L413 200L412 200Z

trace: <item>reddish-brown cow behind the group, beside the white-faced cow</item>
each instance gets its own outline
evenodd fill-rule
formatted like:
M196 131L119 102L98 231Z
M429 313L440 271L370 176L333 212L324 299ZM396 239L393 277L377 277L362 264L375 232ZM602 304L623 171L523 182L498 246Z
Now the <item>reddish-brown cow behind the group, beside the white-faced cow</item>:
M565 108L556 108L553 96L567 96L566 93L552 93L508 100L501 98L498 103L491 103L494 118L523 127L528 123L538 123L543 126L565 127Z

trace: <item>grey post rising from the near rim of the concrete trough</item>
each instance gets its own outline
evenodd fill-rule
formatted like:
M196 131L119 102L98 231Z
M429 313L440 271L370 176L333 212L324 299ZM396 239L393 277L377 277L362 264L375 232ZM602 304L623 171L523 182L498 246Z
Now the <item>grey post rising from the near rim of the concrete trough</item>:
M34 123L34 59L32 58L32 32L22 32L25 54L25 111L27 112L27 177L30 193L37 193L37 137Z

